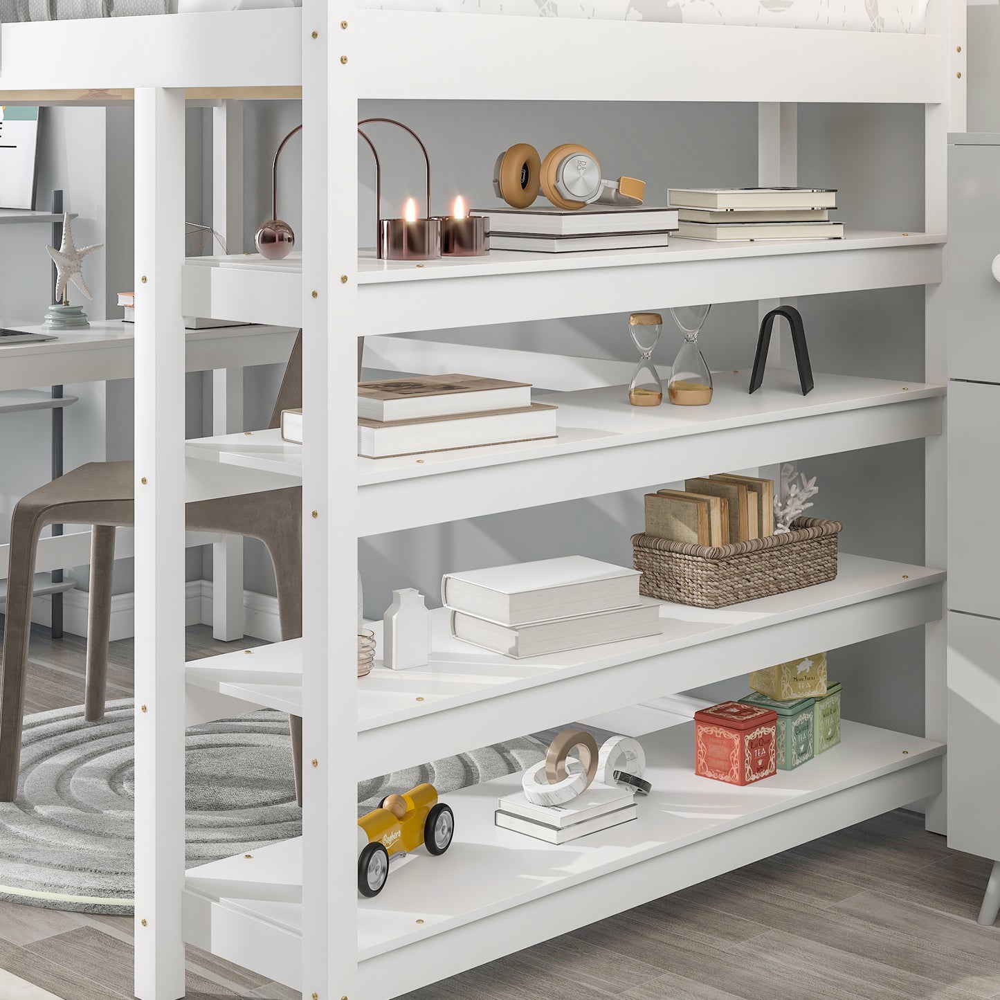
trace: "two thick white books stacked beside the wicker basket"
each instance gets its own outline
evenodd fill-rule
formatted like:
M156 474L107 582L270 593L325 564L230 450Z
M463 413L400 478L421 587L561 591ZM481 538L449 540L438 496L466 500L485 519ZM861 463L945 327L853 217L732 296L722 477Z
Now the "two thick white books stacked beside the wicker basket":
M660 602L639 595L635 569L585 556L446 573L451 634L521 659L658 635Z

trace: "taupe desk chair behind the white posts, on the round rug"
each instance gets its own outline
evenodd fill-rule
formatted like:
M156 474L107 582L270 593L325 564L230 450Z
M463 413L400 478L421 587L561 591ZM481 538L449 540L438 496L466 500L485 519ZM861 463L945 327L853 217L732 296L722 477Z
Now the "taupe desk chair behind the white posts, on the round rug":
M301 405L300 331L278 391L270 426L280 425L282 410ZM0 801L13 802L17 796L38 536L49 524L93 525L85 717L95 722L104 717L107 689L115 528L132 527L135 523L134 484L133 462L89 462L29 493L14 509L0 674ZM274 563L281 638L295 639L302 634L301 486L189 503L187 527L190 531L259 538ZM290 722L295 790L301 804L302 720L292 716Z

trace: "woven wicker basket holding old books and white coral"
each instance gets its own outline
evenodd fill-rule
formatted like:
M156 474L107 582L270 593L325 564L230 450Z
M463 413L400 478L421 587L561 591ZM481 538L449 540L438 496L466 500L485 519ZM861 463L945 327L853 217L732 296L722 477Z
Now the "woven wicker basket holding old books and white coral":
M678 604L723 608L837 575L839 521L800 517L783 535L733 545L688 545L632 536L632 565L642 570L639 591Z

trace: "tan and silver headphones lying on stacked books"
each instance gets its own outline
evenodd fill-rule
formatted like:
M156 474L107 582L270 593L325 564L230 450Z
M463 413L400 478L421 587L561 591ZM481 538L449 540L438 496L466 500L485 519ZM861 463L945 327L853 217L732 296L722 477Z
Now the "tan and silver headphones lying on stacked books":
M526 142L515 143L497 157L493 190L514 208L527 208L538 192L557 208L603 205L641 205L646 184L635 177L608 181L601 177L597 157L585 146L563 143L543 160Z

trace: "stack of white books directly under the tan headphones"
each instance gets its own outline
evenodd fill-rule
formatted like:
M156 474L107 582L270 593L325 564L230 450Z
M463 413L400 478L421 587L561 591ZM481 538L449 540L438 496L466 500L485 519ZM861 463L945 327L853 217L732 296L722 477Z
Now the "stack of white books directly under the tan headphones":
M490 220L490 248L535 253L635 250L665 247L677 229L672 208L588 206L575 211L552 206L477 208Z

